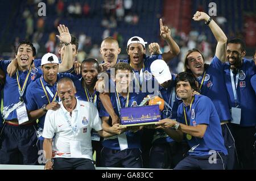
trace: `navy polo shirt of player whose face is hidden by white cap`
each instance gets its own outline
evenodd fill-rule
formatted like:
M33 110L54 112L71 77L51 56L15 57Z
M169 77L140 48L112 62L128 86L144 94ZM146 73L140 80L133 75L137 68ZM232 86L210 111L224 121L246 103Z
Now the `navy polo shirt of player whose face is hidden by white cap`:
M182 103L182 100L178 99L176 96L175 79L176 79L176 75L172 74L171 85L167 89L164 89L162 86L159 86L160 94L158 94L158 96L160 98L163 98L164 102L166 102L170 106L168 107L164 105L164 109L163 111L161 111L162 119L166 119L166 118L177 119L177 108L179 107L179 104ZM172 103L173 100L174 102ZM165 131L163 131L162 129L156 129L153 142L165 143L165 142L172 142L172 141L174 140L170 136L167 136Z

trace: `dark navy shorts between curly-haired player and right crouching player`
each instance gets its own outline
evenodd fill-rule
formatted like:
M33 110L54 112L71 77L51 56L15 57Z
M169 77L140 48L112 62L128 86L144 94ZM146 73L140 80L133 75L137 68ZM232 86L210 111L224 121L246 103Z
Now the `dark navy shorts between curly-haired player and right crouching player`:
M151 169L174 169L187 154L187 142L154 143L150 149Z

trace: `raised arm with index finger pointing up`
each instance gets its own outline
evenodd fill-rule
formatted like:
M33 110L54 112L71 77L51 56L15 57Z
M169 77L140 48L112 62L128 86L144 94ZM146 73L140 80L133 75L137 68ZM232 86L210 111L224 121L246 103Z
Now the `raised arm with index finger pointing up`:
M160 19L160 36L169 45L169 51L162 54L164 61L168 62L180 53L180 48L171 37L171 30L167 26L163 26L163 21Z

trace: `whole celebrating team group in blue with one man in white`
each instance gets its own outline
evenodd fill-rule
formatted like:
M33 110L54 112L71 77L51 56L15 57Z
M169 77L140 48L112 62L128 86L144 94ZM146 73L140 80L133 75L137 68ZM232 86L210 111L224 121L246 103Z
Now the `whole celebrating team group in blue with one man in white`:
M63 24L60 60L52 53L34 60L34 45L20 41L16 58L0 61L0 164L256 169L256 53L247 60L245 43L228 41L205 12L197 11L193 20L210 28L216 52L206 64L200 50L189 50L185 71L177 75L167 63L180 49L162 19L168 52L151 43L146 56L147 42L134 36L127 41L128 58L120 60L117 40L107 37L102 64L94 58L76 62L78 41ZM162 106L158 123L120 127L122 108L146 104Z

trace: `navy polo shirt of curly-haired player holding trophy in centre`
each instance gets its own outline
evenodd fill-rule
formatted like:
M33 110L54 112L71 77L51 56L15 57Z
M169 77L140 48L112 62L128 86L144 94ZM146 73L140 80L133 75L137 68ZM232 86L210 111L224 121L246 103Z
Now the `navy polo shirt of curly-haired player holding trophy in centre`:
M134 92L130 92L128 107L131 107L131 105L133 105L134 101L137 102L137 105L139 105L142 102L144 97L146 97L146 94L144 94L144 93L137 94ZM119 100L121 103L121 107L125 107L126 98L124 98L121 94L119 94ZM115 113L117 115L119 115L118 108L117 108L117 101L116 101L114 92L110 93L110 101L112 103ZM100 117L104 117L104 116L109 117L109 113L105 110L104 106L101 104ZM112 121L110 118L110 125L112 124L111 122ZM135 133L127 131L127 132L125 132L125 134L127 137L128 149L141 148L142 131L138 131ZM102 142L102 145L109 149L120 150L118 138L104 140Z

